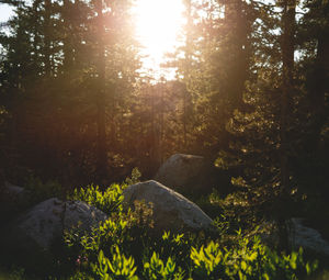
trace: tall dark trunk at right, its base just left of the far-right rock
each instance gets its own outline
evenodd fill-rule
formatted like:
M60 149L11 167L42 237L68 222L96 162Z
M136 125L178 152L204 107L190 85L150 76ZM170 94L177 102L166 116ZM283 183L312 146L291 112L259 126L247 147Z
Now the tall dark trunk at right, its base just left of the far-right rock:
M288 112L290 94L293 91L294 71L294 35L295 35L295 8L296 0L283 2L283 34L282 34L282 91L281 91L281 114L280 114L280 156L281 156L281 190L277 203L279 229L281 249L288 249L287 231L285 220L288 212L290 195L290 170L288 170Z

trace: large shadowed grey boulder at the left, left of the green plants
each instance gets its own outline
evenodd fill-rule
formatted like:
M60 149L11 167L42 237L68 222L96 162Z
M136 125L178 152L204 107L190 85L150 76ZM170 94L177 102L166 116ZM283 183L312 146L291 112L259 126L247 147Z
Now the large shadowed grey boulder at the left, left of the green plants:
M59 253L65 231L79 227L89 231L106 215L81 201L48 199L18 216L7 228L8 254L29 267L52 265Z

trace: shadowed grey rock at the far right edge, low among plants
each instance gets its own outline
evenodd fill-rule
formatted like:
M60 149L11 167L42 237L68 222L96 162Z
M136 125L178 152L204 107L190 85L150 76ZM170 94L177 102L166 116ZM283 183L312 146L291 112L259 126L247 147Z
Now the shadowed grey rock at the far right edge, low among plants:
M294 249L300 246L306 250L329 257L329 243L319 232L303 224L303 219L293 217L290 221L290 243Z

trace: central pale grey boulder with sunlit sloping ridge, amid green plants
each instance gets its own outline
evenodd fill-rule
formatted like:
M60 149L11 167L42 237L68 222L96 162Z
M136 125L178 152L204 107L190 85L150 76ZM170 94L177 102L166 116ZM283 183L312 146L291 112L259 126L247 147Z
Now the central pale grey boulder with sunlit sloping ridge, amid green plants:
M135 201L152 204L152 220L157 231L200 231L212 227L212 219L196 204L157 181L129 186L123 194L125 205L134 208Z

